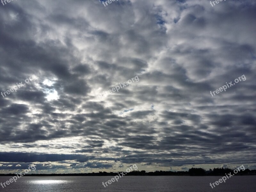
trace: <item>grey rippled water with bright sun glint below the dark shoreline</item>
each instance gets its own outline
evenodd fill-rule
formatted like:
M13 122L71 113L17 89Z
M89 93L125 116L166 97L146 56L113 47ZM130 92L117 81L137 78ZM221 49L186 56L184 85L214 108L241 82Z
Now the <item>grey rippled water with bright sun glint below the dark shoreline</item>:
M0 177L5 182L12 177ZM111 191L111 192L255 192L256 176L235 176L211 188L221 176L189 177L189 176L124 176L104 188L102 182L110 180L106 177L22 177L16 183L2 188L0 191L10 192L76 192L76 191Z

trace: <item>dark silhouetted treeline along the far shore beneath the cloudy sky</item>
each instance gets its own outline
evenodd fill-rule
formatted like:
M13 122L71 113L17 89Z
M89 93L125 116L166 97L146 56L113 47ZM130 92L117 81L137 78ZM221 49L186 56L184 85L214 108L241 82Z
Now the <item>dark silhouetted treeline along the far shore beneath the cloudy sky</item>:
M155 171L155 172L146 172L142 171L132 171L127 172L126 175L130 176L222 176L225 173L234 173L233 169L229 168L214 168L209 171L205 171L203 168L191 168L188 171ZM124 172L126 173L126 172ZM68 173L68 174L26 174L24 176L116 176L118 173L114 172L98 172L98 173ZM244 171L240 171L235 175L256 175L256 170L245 169ZM15 174L0 174L0 176L15 176ZM24 177L23 176L23 177Z

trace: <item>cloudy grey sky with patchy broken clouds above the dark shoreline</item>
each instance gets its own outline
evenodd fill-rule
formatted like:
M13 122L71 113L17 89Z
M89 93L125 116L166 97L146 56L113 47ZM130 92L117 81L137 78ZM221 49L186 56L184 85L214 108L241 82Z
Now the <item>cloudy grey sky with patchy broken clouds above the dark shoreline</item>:
M256 3L0 6L0 172L255 169ZM242 75L246 81L212 97ZM138 76L140 81L105 94ZM246 158L244 158L246 157Z

